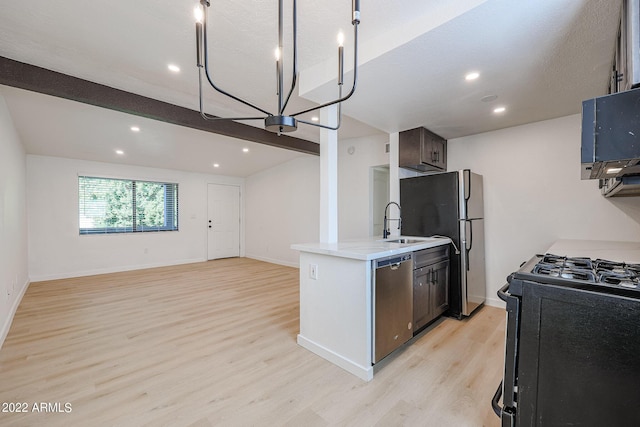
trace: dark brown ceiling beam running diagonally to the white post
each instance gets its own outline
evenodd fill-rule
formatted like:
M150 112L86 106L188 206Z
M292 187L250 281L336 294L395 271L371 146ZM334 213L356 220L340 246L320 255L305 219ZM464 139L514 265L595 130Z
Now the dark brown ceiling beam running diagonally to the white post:
M308 154L320 154L315 142L231 120L209 121L199 111L0 56L0 84L108 108L174 125L217 133Z

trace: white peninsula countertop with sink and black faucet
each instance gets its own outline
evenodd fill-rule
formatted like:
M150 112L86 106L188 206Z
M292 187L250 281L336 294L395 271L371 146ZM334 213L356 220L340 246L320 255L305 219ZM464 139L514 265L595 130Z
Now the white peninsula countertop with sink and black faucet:
M418 243L392 243L391 240L400 238L419 240ZM298 243L291 245L291 249L300 252L310 252L321 255L332 255L342 258L370 261L387 256L419 251L451 243L448 237L413 237L391 236L387 240L380 237L368 239L345 240L336 243Z

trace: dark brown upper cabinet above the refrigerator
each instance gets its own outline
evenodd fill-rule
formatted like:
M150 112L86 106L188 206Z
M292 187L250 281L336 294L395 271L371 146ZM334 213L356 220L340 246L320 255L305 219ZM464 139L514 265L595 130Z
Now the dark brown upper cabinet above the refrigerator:
M400 132L398 166L420 172L447 170L447 140L423 127Z

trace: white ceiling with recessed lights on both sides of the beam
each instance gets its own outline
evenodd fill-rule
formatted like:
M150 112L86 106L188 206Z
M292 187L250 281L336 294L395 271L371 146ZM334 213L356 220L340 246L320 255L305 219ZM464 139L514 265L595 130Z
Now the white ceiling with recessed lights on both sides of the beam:
M290 1L285 3L288 16ZM196 4L0 0L0 55L197 109ZM579 113L582 100L606 93L620 4L362 1L358 87L343 105L347 117L339 136L425 126L450 139ZM276 9L275 0L214 0L209 11L210 61L219 85L267 110L276 105ZM302 95L289 112L337 94L335 36L339 30L346 34L351 70L350 10L348 0L299 2ZM289 38L285 57L288 45ZM169 63L182 71L170 73ZM465 81L469 71L480 78ZM347 86L351 79L348 73ZM303 155L20 89L0 92L33 154L235 176ZM482 102L487 95L497 99ZM254 115L212 90L205 104L211 114ZM506 112L493 114L498 105ZM132 125L141 132L132 133ZM302 124L293 136L319 140L316 128ZM220 167L214 169L214 162Z

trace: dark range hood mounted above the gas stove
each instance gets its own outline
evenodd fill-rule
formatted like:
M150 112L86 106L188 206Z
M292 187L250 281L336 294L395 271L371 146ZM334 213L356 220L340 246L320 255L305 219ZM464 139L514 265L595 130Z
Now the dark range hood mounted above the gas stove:
M582 179L602 179L618 185L637 182L622 178L640 176L640 89L582 103L581 160ZM640 195L640 186L634 187L635 193L631 189L622 193Z

